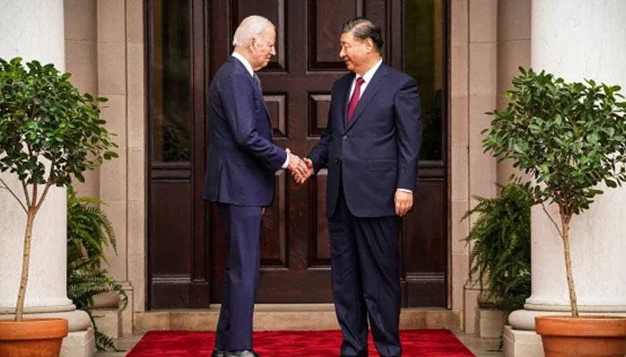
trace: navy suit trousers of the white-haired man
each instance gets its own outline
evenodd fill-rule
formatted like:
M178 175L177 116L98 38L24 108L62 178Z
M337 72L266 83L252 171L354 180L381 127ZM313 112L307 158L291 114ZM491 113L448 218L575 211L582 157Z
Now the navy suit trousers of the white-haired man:
M261 207L217 203L228 244L216 346L221 351L252 348L252 313L258 285Z

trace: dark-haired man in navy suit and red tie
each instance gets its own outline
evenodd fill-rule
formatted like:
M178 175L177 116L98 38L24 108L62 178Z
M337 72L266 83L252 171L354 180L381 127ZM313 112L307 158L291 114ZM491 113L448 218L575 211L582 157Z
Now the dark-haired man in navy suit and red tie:
M303 182L328 164L326 215L342 356L368 355L368 318L381 356L400 356L398 233L413 204L421 124L418 85L383 63L381 29L342 26L351 73L334 82L328 125Z

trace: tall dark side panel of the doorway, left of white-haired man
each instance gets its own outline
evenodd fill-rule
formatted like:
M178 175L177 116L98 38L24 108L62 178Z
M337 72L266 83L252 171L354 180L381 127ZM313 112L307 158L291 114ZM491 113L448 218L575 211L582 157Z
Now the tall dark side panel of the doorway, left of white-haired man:
M190 307L202 296L191 294L197 262L192 6L191 0L152 0L147 6L148 308Z

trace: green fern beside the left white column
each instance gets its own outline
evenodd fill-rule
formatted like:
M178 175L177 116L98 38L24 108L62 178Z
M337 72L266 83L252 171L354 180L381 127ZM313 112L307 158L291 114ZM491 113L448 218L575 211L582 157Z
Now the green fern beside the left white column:
M87 311L98 351L118 350L110 336L97 328L93 314L93 297L114 291L122 295L122 308L128 303L123 287L108 276L102 268L106 262L105 248L117 253L115 234L111 221L98 207L100 200L78 197L72 186L67 189L67 295L76 307Z

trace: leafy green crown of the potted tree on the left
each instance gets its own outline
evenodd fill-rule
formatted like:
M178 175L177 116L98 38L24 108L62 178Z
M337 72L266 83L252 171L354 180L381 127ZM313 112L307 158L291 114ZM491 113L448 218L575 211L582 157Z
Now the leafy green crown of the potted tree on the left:
M28 185L66 186L72 176L82 182L84 170L117 157L97 106L106 98L80 95L70 76L53 64L24 67L21 58L0 58L0 171Z

